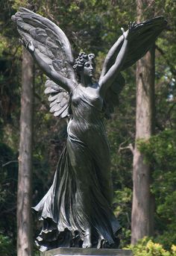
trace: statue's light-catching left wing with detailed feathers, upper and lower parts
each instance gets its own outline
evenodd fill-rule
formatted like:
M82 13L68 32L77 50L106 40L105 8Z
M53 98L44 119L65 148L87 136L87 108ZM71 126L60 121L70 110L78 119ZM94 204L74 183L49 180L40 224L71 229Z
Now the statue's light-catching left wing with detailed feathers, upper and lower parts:
M66 34L49 19L25 8L12 17L16 22L22 40L33 42L35 51L45 63L72 81L76 81L72 68L74 62L72 49ZM45 82L45 94L48 94L50 111L54 116L69 116L69 93L49 78Z

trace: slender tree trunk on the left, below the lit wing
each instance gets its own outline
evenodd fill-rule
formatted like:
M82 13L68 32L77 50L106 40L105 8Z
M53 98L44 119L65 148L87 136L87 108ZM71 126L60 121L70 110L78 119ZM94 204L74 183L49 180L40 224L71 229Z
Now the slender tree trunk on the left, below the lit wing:
M17 255L31 256L31 178L32 178L32 121L33 121L34 61L23 48L22 97L19 142L19 178L17 197Z

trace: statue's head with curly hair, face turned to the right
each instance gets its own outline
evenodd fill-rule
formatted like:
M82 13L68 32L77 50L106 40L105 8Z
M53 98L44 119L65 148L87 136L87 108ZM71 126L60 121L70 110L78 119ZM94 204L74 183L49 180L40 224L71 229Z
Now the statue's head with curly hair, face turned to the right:
M85 52L80 52L77 59L75 59L75 63L73 68L80 78L81 75L87 75L92 77L95 73L95 54L85 54Z

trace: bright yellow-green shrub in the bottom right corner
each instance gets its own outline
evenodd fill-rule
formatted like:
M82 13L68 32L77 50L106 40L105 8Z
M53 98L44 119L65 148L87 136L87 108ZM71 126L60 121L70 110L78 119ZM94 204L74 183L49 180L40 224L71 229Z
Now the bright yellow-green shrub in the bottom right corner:
M135 256L175 256L176 255L176 246L172 245L169 251L163 249L163 246L160 243L154 243L148 237L145 237L135 246L129 246L128 249L133 251Z

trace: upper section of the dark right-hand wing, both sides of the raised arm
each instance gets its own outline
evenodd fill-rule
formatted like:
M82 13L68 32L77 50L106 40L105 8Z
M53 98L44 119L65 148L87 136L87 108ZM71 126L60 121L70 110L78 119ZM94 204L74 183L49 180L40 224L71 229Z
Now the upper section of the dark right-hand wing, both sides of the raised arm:
M157 16L153 19L136 23L136 25L133 26L133 30L131 31L131 35L128 39L128 54L121 70L132 66L137 60L145 55L161 31L166 28L166 24L167 22L163 16ZM127 33L127 31L125 33ZM101 71L100 78L104 76L110 67L113 66L113 63L115 63L117 54L122 47L123 41L124 37L122 35L119 37L116 43L114 43L110 51L108 51L107 57L104 60L104 66Z

